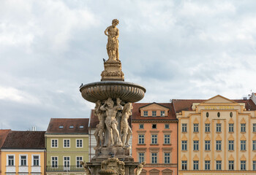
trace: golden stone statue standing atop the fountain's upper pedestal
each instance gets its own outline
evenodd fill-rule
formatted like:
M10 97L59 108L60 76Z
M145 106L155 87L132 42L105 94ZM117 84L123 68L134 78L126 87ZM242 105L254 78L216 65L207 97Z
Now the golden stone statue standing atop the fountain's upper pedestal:
M119 30L116 28L119 21L114 19L112 20L112 26L109 26L104 31L105 35L108 36L107 52L108 58L110 61L119 61L119 52L118 52L118 36Z

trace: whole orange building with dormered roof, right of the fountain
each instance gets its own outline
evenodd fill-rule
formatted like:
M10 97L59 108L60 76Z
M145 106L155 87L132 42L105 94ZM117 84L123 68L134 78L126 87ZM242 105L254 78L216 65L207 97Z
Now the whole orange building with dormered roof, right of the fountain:
M132 157L141 174L177 174L178 120L170 103L132 104Z

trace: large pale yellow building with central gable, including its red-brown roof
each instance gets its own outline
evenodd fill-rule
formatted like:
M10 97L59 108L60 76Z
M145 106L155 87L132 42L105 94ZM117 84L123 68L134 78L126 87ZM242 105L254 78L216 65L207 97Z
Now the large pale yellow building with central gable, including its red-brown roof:
M214 96L173 100L178 174L256 174L256 105Z

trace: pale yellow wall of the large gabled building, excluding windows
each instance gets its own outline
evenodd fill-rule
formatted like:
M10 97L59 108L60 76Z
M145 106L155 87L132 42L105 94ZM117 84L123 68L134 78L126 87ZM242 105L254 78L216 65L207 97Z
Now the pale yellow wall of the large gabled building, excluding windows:
M221 96L195 106L193 111L177 114L179 174L256 174L252 171L252 160L256 160L256 150L252 150L252 140L256 140L256 134L252 132L252 124L256 123L255 111L246 111L245 104ZM183 124L187 124L187 131L183 131ZM206 124L210 124L209 132ZM233 132L229 132L229 124L233 124ZM245 132L241 132L241 124L245 124ZM194 130L195 125L198 125L198 131ZM217 125L221 126L219 132ZM182 141L187 141L187 150L182 150ZM199 141L198 150L194 149L194 141ZM210 150L206 150L205 141L210 141ZM221 141L220 150L217 150L217 141ZM229 141L234 141L234 150L228 149ZM245 150L241 150L241 141L246 141ZM205 169L208 160L210 170ZM217 170L217 160L221 161L220 170ZM234 161L232 171L229 170L229 160ZM246 161L244 171L241 171L241 160ZM182 161L187 161L187 170L182 170ZM198 170L194 169L194 161L199 163Z

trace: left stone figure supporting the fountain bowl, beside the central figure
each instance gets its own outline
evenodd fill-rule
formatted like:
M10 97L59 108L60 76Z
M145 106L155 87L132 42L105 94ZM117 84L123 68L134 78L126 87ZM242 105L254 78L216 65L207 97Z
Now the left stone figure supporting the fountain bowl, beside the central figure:
M96 131L94 132L95 139L97 141L96 147L103 147L104 146L104 137L103 133L105 132L105 117L104 112L100 110L101 101L97 101L95 108L94 108L94 115L98 117L99 124L97 125Z

